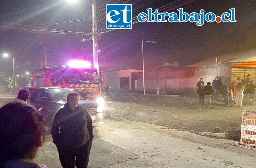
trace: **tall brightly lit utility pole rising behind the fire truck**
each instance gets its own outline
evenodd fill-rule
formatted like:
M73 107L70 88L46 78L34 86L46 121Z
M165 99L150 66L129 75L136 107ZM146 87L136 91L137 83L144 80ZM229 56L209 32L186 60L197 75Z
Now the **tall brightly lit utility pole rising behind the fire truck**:
M96 1L93 1L93 67L99 71L99 57L98 57L98 31L97 31L97 16L96 16Z

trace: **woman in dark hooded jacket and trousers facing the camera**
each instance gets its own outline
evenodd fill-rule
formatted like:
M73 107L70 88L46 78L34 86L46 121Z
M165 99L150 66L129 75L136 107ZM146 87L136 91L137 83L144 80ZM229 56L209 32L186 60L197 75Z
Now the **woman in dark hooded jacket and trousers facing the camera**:
M69 93L67 103L54 115L52 138L63 168L87 168L93 143L93 122L79 105L77 93Z

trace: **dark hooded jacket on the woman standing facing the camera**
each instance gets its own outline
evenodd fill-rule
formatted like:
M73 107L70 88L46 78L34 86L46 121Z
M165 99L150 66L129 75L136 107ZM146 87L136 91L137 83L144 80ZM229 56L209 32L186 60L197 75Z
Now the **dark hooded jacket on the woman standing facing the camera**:
M93 140L93 122L87 109L79 105L73 111L66 103L54 115L52 138L57 147L80 147Z

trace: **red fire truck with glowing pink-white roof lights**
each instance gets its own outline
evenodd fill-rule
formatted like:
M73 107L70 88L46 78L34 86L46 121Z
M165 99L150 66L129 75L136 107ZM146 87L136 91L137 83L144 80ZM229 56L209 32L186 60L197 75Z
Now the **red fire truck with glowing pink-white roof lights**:
M101 96L103 73L91 67L89 61L72 60L67 65L45 67L32 72L35 87L68 87L80 95L96 99Z

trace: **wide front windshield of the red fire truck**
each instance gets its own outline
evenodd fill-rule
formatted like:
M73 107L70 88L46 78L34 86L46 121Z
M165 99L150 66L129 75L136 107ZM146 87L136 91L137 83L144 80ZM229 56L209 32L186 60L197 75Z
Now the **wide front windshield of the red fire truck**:
M95 84L99 83L97 71L93 69L67 69L65 82L72 84Z

